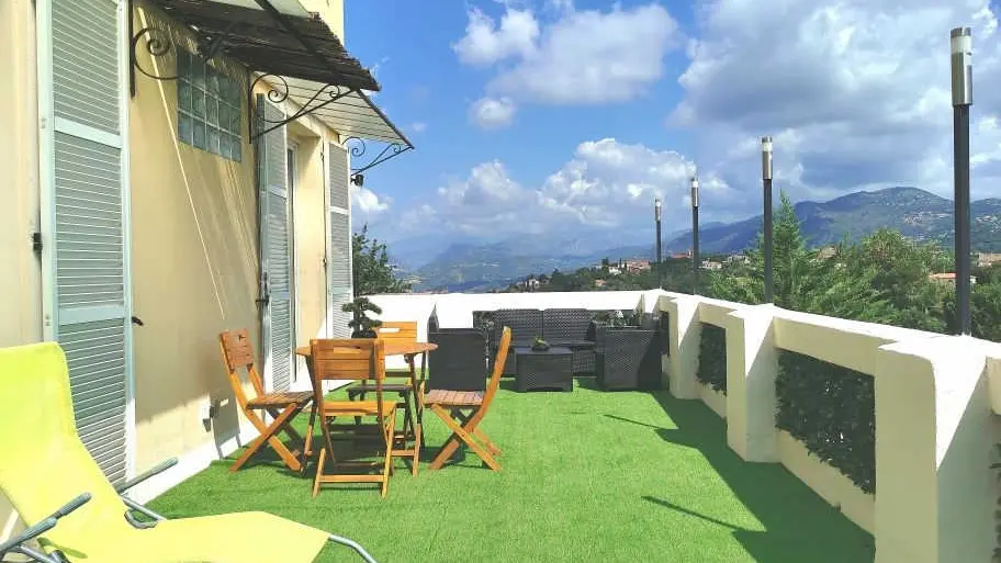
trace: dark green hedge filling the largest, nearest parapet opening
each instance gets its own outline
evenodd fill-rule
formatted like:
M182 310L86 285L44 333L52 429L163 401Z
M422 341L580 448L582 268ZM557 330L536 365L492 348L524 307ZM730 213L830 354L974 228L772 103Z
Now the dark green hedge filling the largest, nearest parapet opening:
M776 424L866 493L876 492L876 395L870 375L784 350Z

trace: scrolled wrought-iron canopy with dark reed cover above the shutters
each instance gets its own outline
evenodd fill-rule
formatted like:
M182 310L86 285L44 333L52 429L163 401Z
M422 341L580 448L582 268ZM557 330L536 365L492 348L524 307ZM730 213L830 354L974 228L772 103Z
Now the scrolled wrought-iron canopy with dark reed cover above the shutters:
M128 0L130 4L133 1ZM252 98L262 90L269 101L289 101L295 108L281 121L248 120L251 139L312 115L338 132L353 159L359 160L351 166L356 183L361 181L361 172L414 148L365 93L380 90L371 72L345 50L317 14L305 12L297 0L146 1L187 26L195 37L198 55L204 59L222 54L248 67L254 77L247 89L251 112L256 106ZM157 80L178 78L146 69L136 57L140 47L154 58L166 55L176 49L173 42L170 33L157 26L132 34L133 94L136 71ZM385 146L369 149L370 142Z

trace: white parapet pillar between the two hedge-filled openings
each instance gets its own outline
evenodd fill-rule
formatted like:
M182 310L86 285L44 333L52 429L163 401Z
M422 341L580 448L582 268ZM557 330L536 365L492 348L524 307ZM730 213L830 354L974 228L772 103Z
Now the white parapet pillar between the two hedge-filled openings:
M727 319L727 443L745 461L779 460L774 316L773 305L758 305Z

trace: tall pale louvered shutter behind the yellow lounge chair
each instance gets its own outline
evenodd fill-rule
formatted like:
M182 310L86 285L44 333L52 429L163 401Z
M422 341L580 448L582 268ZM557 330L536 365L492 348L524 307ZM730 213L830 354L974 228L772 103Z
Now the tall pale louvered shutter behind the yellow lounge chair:
M45 337L66 352L77 432L131 472L125 2L37 0Z

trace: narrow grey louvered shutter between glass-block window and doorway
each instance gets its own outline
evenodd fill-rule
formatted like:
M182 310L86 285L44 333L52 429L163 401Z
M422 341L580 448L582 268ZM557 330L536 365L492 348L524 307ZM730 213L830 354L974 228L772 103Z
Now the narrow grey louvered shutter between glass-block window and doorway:
M284 114L258 95L258 115L278 122ZM261 272L268 294L263 307L265 378L274 391L288 391L292 380L292 252L290 245L291 209L289 205L285 156L285 127L258 137L258 181L261 205Z

